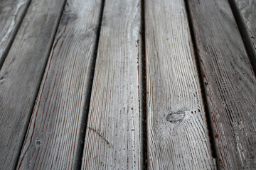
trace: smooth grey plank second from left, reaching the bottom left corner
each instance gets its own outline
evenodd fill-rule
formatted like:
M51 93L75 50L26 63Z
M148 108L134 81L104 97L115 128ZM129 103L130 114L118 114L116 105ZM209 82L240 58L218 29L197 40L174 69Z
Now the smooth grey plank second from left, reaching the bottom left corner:
M0 167L14 169L65 0L35 0L0 71Z

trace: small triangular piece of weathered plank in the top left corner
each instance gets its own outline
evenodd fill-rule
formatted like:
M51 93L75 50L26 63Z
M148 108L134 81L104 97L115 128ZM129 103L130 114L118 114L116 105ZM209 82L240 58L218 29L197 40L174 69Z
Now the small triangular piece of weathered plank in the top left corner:
M30 0L0 1L0 68L26 13Z

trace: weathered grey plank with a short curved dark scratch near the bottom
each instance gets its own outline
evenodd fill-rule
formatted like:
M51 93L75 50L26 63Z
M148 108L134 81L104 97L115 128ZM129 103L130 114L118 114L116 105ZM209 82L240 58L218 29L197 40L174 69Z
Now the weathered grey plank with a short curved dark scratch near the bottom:
M82 169L142 169L141 2L106 0Z

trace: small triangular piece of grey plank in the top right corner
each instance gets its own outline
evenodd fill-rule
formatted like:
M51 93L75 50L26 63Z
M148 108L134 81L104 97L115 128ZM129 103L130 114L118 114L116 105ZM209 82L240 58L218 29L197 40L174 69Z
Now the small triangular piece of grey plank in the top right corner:
M235 8L236 15L242 27L241 34L247 45L249 55L253 55L252 64L256 67L256 1L255 0L230 0ZM250 54L252 53L252 54ZM255 68L256 69L256 68Z

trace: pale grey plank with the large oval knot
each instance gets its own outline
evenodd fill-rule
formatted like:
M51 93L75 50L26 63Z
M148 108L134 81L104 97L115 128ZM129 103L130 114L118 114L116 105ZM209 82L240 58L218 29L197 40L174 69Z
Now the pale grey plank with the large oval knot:
M214 169L184 1L145 6L149 169Z

